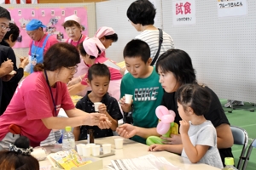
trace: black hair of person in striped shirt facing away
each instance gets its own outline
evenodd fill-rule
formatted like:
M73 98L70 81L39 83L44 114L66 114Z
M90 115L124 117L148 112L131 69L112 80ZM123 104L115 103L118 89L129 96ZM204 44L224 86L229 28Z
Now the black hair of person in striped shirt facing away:
M131 3L126 15L134 24L154 25L155 8L148 0L137 0Z

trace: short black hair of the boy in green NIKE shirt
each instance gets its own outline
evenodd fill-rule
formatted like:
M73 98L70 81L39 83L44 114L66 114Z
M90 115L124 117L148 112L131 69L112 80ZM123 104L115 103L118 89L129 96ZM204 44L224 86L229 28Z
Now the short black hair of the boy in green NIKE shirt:
M150 48L147 42L134 39L126 44L123 54L124 58L140 57L144 63L147 63L148 59L150 58Z

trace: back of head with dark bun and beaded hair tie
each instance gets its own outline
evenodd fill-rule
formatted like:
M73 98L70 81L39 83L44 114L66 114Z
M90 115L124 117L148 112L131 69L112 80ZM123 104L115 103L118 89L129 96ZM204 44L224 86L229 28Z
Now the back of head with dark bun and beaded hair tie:
M32 150L29 139L20 136L15 144L9 145L9 150L0 151L0 169L39 170L38 160L31 156Z

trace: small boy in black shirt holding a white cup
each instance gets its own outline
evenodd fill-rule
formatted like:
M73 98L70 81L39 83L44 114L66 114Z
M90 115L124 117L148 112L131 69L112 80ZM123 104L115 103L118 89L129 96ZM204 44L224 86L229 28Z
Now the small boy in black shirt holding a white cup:
M95 112L95 102L102 102L98 110L105 114L112 125L108 129L100 129L97 126L81 126L73 129L73 134L76 140L87 139L87 131L93 129L94 138L113 136L113 131L118 127L118 120L123 116L119 109L119 104L116 99L109 96L108 85L110 82L110 73L107 65L95 64L88 71L88 84L91 87L91 92L88 92L84 98L80 99L76 108L88 113Z

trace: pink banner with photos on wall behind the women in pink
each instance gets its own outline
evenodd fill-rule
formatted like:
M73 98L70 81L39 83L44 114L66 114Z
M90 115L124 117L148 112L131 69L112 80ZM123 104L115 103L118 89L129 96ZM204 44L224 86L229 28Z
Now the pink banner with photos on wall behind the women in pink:
M9 8L12 20L20 28L19 42L16 42L14 48L28 48L31 38L26 34L26 24L32 19L41 20L45 31L55 35L60 41L67 39L67 34L61 26L64 18L72 14L77 14L81 19L82 32L88 36L87 10L86 8ZM21 41L21 42L20 42Z

